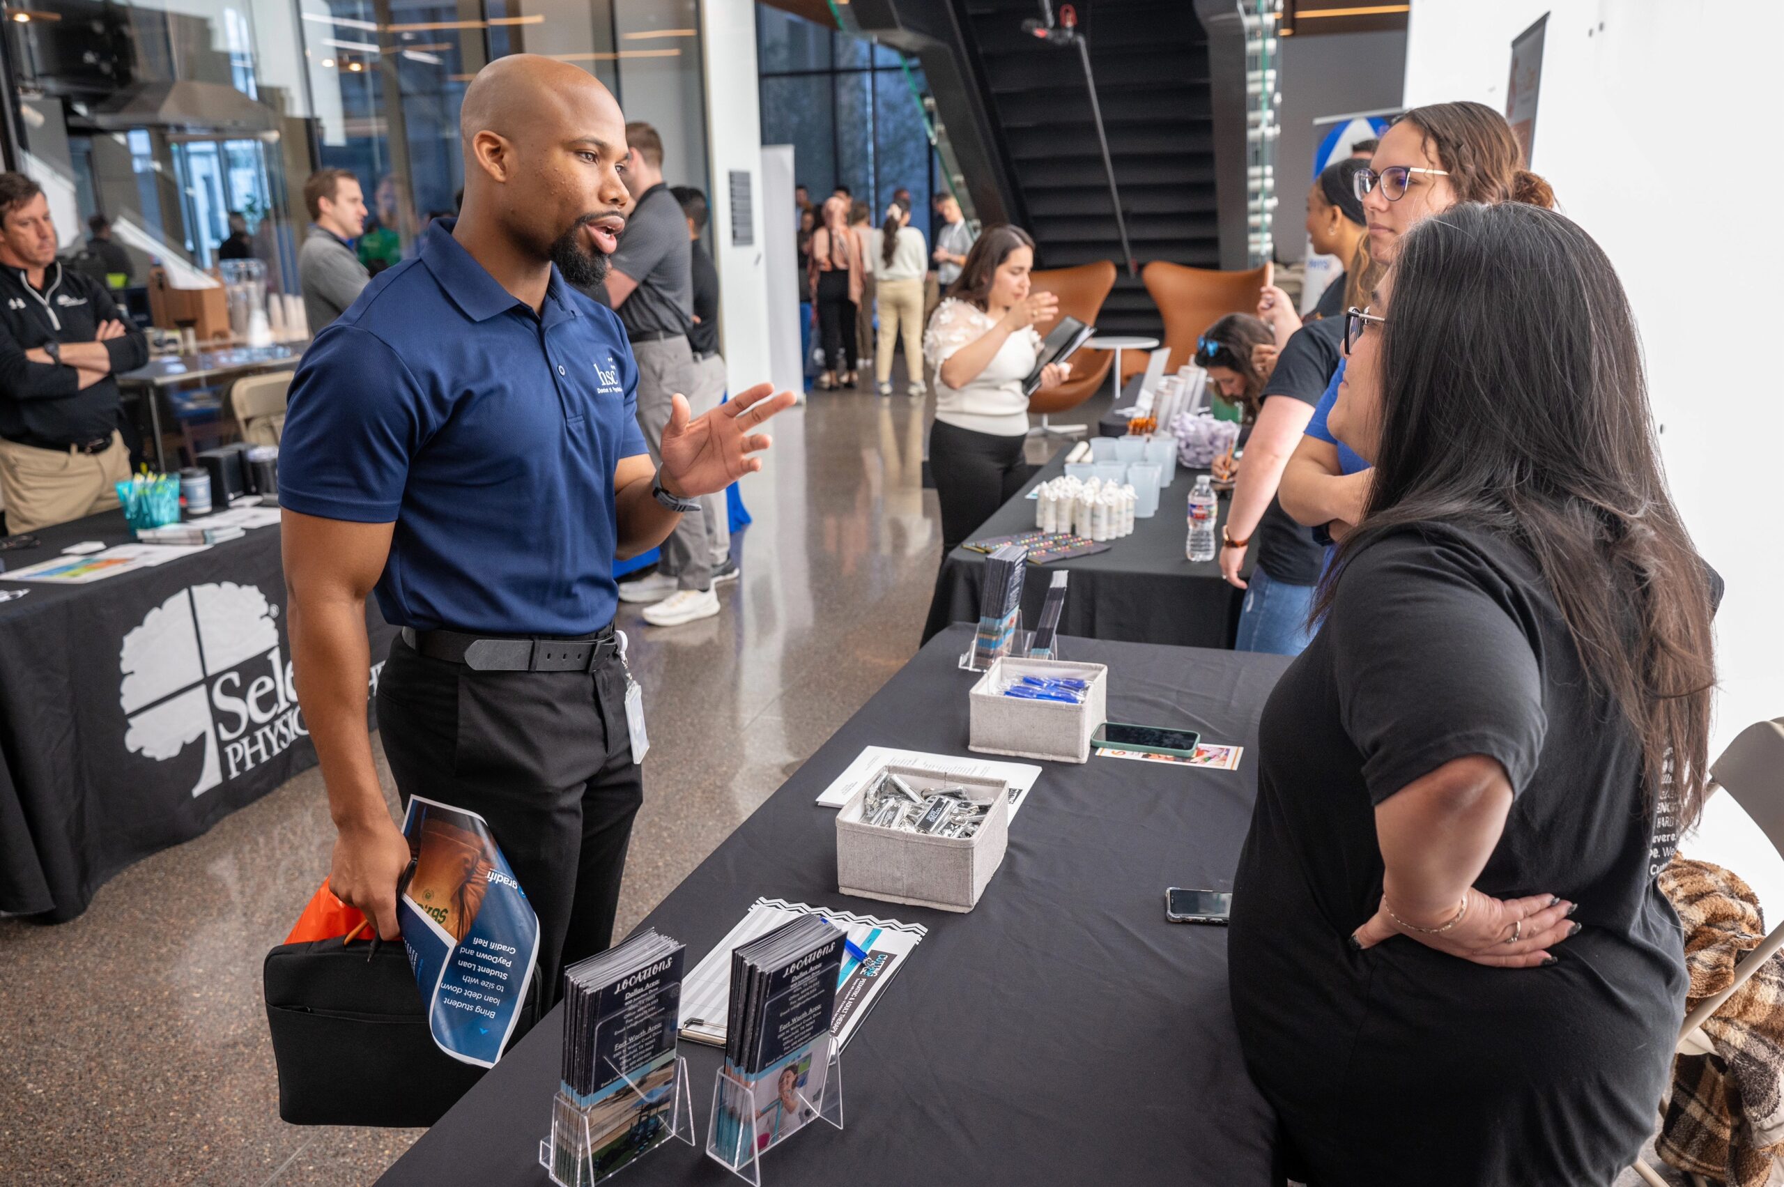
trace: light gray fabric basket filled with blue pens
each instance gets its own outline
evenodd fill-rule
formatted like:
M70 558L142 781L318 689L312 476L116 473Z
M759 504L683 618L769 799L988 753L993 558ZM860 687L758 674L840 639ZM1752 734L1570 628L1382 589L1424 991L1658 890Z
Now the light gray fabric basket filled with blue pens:
M1088 762L1090 735L1108 721L1108 666L1074 664L1063 659L1017 659L1004 655L967 694L970 714L969 750L1017 759ZM1020 677L1065 677L1088 680L1083 703L1029 701L997 693Z

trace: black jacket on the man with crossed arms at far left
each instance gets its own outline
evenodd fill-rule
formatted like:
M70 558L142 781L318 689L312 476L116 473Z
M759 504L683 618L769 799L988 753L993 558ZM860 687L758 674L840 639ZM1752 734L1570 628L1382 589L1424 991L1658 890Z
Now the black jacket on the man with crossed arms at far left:
M121 321L123 337L105 343L112 373L80 389L71 366L32 362L25 352L57 343L91 343L102 321ZM112 303L105 286L57 261L43 291L16 268L0 268L0 437L43 448L105 437L118 427L118 380L148 362L148 339Z

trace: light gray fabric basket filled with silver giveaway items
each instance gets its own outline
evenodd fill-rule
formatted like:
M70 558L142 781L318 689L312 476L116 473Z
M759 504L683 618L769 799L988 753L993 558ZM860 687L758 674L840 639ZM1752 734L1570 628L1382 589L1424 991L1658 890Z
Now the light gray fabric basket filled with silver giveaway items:
M892 771L913 789L965 787L976 801L992 801L972 837L926 837L862 821L867 789ZM1010 839L1010 787L1001 778L937 775L888 764L871 775L837 812L837 889L844 894L912 903L937 910L972 910L985 884L1003 864Z

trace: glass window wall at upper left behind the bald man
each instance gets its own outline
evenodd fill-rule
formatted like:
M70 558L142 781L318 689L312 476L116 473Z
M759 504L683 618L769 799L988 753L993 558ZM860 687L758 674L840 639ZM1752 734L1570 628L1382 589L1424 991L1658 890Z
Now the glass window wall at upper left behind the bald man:
M464 186L458 107L505 54L574 62L657 125L673 184L710 191L698 0L34 0L0 54L20 168L68 252L112 220L136 264L205 270L241 214L296 291L303 180L351 170L373 268L414 252Z

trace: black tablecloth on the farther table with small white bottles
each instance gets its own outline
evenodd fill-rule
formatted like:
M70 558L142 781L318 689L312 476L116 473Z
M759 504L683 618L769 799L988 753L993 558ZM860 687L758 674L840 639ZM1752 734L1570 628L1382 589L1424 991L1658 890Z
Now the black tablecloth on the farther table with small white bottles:
M1060 450L1042 466L1020 494L979 525L972 539L1033 532L1035 500L1026 496L1037 484L1065 473L1067 452ZM1070 569L1060 634L1193 648L1231 646L1238 630L1242 591L1220 578L1220 566L1215 560L1183 559L1188 537L1185 512L1195 475L1197 471L1177 466L1177 480L1160 491L1158 514L1151 519L1135 519L1133 534L1110 541L1108 552L1028 566L1022 623L1029 630L1040 623L1040 605L1054 569ZM1222 496L1215 539L1226 523L1226 512L1227 500ZM947 553L942 559L942 571L935 577L929 619L922 625L924 643L949 623L979 621L983 589L985 555L965 548Z

